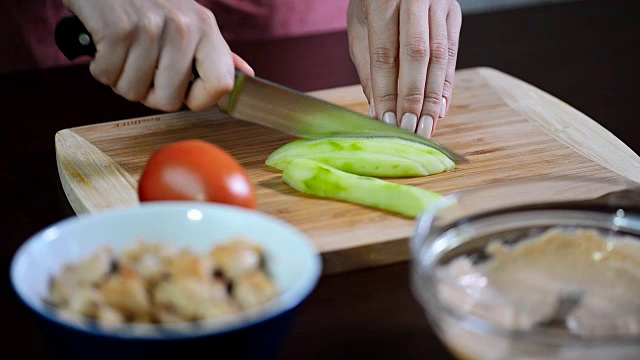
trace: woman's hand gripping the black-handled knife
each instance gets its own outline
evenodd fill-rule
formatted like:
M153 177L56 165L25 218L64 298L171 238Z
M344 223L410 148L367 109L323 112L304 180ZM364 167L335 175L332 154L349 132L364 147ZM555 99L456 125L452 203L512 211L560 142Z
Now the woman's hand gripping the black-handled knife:
M203 110L231 91L238 68L253 74L194 0L63 0L96 44L91 74L124 98L176 111ZM191 83L192 64L199 78Z

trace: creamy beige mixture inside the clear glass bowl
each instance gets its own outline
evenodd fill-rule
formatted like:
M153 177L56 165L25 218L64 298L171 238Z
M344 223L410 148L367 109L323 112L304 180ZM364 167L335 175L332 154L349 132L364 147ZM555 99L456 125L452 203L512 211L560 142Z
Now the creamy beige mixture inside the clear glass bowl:
M594 229L552 228L436 268L441 300L511 330L640 335L640 241ZM533 291L535 289L535 291Z

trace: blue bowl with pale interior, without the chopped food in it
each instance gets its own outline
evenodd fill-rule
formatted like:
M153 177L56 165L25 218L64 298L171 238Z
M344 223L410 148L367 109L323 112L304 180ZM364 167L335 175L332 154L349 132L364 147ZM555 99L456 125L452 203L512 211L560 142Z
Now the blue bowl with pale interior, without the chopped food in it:
M69 318L43 299L49 280L69 263L109 245L115 252L139 239L210 251L244 238L264 250L267 270L279 290L272 301L221 319L173 324L97 326ZM291 225L259 211L202 202L154 202L65 219L30 237L11 264L18 297L42 326L60 358L273 358L299 305L315 288L321 258L309 239Z

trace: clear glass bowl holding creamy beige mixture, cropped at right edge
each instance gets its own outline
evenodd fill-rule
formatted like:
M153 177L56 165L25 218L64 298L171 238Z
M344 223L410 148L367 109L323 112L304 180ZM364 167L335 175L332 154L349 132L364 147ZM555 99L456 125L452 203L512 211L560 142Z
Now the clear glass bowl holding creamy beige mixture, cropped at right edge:
M411 289L460 359L640 359L640 185L542 178L449 194Z

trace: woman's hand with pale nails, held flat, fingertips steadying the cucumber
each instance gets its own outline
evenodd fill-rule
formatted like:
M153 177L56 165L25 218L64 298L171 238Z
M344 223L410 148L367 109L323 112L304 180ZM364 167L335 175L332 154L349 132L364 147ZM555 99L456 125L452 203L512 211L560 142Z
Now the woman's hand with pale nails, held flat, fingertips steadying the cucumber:
M351 58L370 116L429 138L451 103L462 26L455 0L351 0Z

